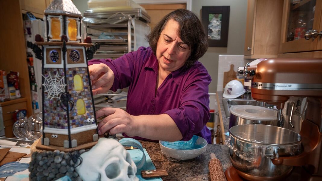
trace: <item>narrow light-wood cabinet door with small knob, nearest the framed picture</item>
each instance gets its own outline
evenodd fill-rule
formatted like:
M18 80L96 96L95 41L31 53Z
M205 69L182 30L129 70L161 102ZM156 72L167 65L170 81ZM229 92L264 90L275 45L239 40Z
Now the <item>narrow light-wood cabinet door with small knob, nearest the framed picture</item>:
M254 46L253 32L255 32L254 21L256 16L256 2L257 1L255 0L248 0L244 55L253 54L253 46Z

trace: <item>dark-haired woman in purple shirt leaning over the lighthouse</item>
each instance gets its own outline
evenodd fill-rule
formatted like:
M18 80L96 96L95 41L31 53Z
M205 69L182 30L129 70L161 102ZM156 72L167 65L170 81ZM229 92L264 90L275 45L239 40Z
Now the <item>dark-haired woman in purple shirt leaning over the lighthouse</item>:
M198 17L185 9L167 14L140 47L118 59L91 60L93 94L129 87L127 111L106 107L96 117L99 134L123 132L143 140L190 140L193 135L211 143L205 126L210 118L211 78L197 60L208 44Z

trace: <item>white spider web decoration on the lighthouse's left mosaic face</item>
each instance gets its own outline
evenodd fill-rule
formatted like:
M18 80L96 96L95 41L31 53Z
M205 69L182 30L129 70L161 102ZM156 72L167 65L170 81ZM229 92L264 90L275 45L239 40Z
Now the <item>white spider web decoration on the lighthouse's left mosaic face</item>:
M43 75L42 75L43 76ZM65 82L64 77L60 76L58 74L58 71L56 72L56 76L52 77L52 74L49 73L47 77L43 76L45 82L43 83L44 86L44 92L48 93L48 99L52 100L52 98L60 97L60 94L65 92Z

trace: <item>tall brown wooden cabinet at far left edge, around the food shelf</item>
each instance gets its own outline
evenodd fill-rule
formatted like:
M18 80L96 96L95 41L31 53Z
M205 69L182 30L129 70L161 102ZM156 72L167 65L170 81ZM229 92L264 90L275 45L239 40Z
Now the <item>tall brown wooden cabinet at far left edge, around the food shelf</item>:
M1 29L0 39L0 68L7 72L12 70L19 72L19 86L22 98L0 102L3 109L5 133L12 137L12 112L16 109L26 109L27 116L32 114L31 91L27 66L26 46L24 40L24 28L19 0L0 1L0 24L5 26Z

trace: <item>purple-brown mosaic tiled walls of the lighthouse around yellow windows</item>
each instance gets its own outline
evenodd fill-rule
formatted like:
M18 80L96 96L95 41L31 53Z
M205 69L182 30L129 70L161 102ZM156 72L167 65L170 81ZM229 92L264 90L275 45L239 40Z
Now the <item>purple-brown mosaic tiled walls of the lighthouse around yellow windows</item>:
M49 74L55 76L58 71L60 76L64 76L62 68L45 68L44 76ZM80 78L81 81L75 81L74 77ZM69 111L70 128L81 127L84 125L95 124L93 103L90 94L89 77L87 68L67 68L67 89L71 94L70 102L73 103L72 109ZM78 79L76 79L78 80ZM75 83L74 83L75 81ZM79 84L82 85L79 85ZM78 90L75 89L75 86ZM80 90L79 87L82 87ZM48 94L44 93L44 123L48 128L68 129L67 124L67 111L63 110L64 105L61 104L59 98L47 97ZM80 101L79 101L80 100ZM58 101L58 104L57 104ZM79 101L79 102L78 102ZM72 105L71 103L69 104ZM65 107L66 109L66 107ZM83 111L80 109L84 109ZM81 114L80 114L81 113Z

